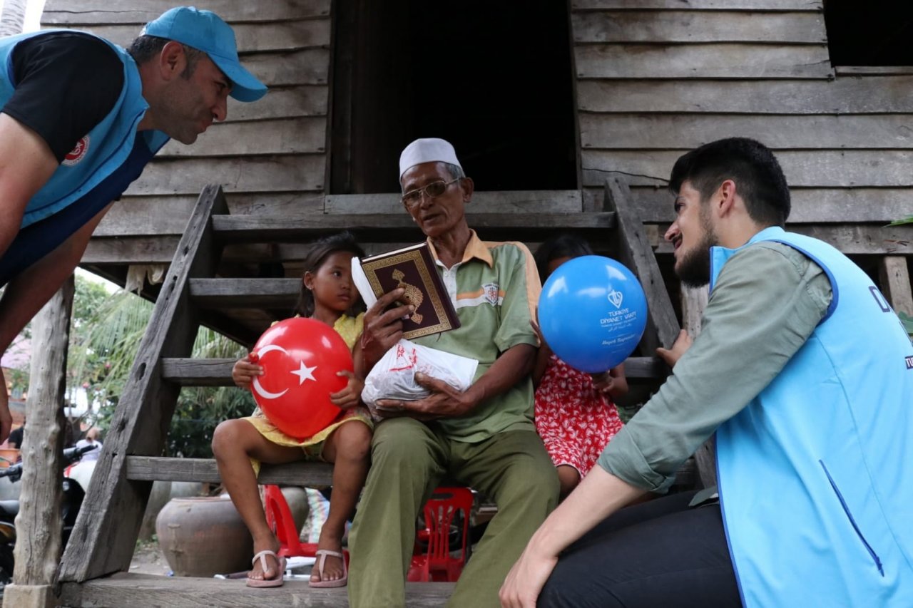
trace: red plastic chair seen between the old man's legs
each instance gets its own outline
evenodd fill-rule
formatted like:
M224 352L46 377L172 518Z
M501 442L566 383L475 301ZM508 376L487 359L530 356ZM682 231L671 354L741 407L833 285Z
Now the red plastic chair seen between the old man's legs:
M473 495L468 487L438 487L425 503L425 529L418 537L427 539L428 550L414 555L406 576L407 581L455 582L467 561L469 513ZM459 557L450 555L450 526L457 512L463 514L462 547Z

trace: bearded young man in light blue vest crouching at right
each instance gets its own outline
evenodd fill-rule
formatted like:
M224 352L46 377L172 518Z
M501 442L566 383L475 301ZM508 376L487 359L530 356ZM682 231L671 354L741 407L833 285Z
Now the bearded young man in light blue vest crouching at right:
M897 315L834 247L783 230L789 190L761 143L705 144L669 185L676 273L710 283L704 330L530 540L504 605L910 605L913 346ZM612 515L714 432L718 488Z

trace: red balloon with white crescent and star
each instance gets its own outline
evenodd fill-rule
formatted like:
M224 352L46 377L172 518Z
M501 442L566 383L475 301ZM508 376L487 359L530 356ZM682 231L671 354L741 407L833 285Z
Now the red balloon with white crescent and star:
M341 335L313 319L279 321L263 332L252 358L263 367L250 390L269 422L296 439L306 439L330 425L341 409L330 393L341 391L352 372L352 352Z

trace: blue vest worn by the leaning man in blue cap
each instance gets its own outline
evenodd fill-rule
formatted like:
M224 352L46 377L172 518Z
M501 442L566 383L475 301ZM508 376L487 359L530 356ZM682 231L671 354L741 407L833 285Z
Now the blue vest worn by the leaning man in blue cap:
M5 69L0 70L0 108L12 97L16 89L12 65L13 49L26 38L47 33L45 30L0 40L0 65L5 66ZM114 49L123 63L124 86L121 89L121 96L108 115L79 141L76 149L68 154L44 187L29 201L22 219L23 228L58 213L76 201L86 204L87 195L100 183L122 170L133 152L134 144L142 143L149 152L149 158L152 158L152 155L168 141L168 136L161 131L142 131L142 138L137 137L136 127L149 107L142 98L140 72L127 51L107 40L105 42ZM78 103L79 100L74 102ZM120 195L129 183L123 184L121 192L114 197ZM100 201L99 210L111 200L113 198Z

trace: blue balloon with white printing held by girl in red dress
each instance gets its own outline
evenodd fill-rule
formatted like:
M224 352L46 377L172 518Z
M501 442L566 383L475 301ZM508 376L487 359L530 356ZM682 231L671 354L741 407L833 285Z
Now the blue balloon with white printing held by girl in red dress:
M646 327L646 296L611 257L575 257L551 273L539 299L542 337L581 372L605 372L634 352Z

